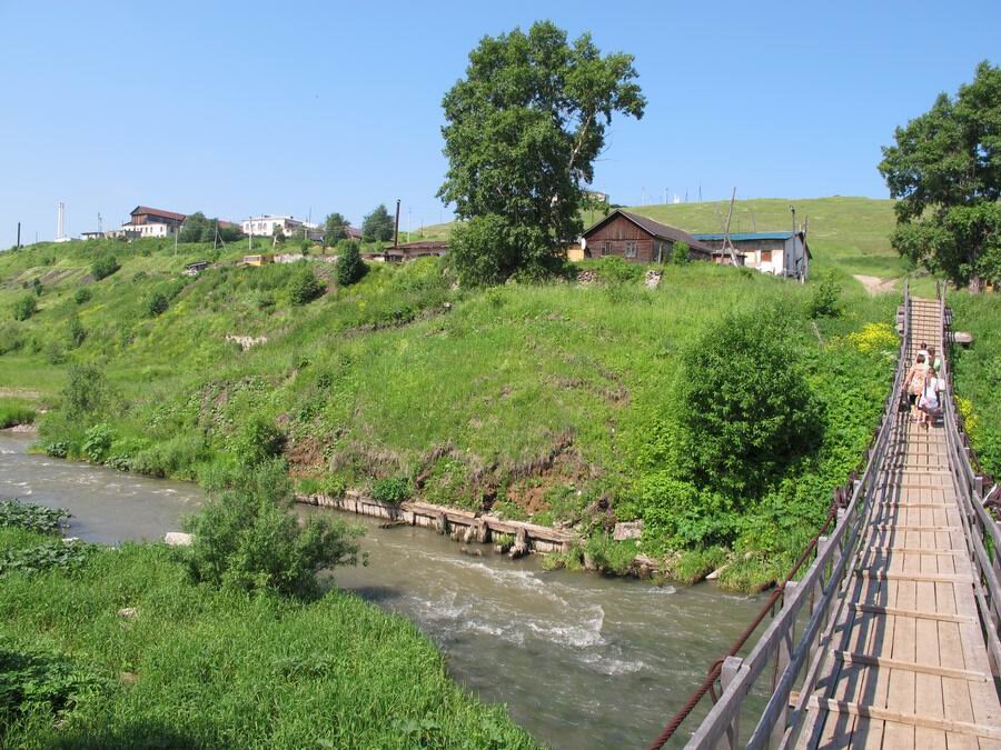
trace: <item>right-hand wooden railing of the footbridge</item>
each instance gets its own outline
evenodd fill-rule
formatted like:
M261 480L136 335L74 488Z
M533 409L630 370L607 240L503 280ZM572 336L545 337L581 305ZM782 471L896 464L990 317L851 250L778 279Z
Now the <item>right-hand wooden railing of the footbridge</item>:
M942 314L942 341L951 346L952 331L947 314L945 286L939 288L939 304ZM950 454L949 466L952 478L959 490L962 508L963 527L967 532L967 546L973 561L974 594L980 612L980 624L991 671L995 677L1001 674L1001 529L985 507L991 494L999 489L988 477L974 470L975 454L970 440L962 429L962 418L955 408L955 393L952 383L952 368L943 359L945 370L945 393L943 399L943 426L945 446Z

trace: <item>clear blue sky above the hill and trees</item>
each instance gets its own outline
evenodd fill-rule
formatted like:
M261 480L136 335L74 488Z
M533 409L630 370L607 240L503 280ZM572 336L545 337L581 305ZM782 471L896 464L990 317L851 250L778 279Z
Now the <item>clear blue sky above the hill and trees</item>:
M0 247L143 203L240 219L403 200L447 220L442 94L484 34L552 19L636 57L613 122L616 202L886 197L894 126L1001 62L984 2L49 2L0 0Z

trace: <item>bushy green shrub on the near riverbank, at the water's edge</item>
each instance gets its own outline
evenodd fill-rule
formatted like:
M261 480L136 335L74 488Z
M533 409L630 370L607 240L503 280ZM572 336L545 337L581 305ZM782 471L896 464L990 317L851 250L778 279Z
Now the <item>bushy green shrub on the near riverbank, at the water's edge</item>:
M195 534L187 550L192 579L242 591L310 597L318 590L318 571L357 563L358 528L320 516L310 516L300 526L289 511L290 502L279 461L256 468L239 489L209 500L185 522Z

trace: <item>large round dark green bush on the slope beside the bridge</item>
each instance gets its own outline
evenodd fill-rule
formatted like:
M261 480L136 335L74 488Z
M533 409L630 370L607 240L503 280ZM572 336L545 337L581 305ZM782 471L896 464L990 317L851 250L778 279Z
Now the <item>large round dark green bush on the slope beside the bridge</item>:
M674 403L700 488L761 493L821 436L821 404L779 312L729 313L695 336L680 358Z

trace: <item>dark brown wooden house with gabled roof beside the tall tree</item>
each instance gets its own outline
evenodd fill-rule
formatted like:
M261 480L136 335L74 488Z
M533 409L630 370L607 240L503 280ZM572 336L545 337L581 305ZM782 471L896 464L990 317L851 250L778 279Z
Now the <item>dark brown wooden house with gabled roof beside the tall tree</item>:
M675 242L688 246L692 260L712 260L712 248L687 232L622 209L586 230L581 246L586 258L618 256L636 263L663 263L671 260Z

